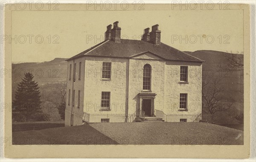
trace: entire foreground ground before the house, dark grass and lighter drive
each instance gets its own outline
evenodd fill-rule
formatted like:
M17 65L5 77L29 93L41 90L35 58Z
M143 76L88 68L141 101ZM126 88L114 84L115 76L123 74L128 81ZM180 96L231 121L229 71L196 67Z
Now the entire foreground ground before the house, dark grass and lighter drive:
M243 145L244 132L203 122L95 123L13 132L13 144Z

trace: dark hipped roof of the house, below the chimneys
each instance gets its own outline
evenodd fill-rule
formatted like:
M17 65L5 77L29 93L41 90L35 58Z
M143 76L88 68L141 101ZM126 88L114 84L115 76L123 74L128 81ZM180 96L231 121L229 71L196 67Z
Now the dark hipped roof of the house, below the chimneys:
M124 39L121 39L121 43L115 43L111 40L103 41L102 43L99 43L67 60L73 60L78 57L86 56L132 58L135 55L144 52L151 52L160 58L163 58L163 60L204 62L197 57L186 54L185 52L177 50L164 43L161 43L160 45L154 45L142 40Z

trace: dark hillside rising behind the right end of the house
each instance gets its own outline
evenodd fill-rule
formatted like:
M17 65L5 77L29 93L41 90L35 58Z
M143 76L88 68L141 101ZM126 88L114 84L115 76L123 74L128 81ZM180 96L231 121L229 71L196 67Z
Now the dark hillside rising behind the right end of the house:
M216 114L216 121L219 123L236 123L237 121L233 115L244 110L244 71L227 71L221 69L221 67L228 64L227 57L239 58L243 61L244 55L208 50L185 52L205 61L202 72L203 82L206 79L219 78L221 86L224 88L222 98L227 99L227 102L233 103L233 107L229 112Z

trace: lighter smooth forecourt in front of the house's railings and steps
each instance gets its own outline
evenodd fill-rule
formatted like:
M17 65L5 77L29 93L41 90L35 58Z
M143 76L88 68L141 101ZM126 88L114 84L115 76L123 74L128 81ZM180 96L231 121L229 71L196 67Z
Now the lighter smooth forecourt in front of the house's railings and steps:
M94 123L121 145L243 145L244 132L203 122Z

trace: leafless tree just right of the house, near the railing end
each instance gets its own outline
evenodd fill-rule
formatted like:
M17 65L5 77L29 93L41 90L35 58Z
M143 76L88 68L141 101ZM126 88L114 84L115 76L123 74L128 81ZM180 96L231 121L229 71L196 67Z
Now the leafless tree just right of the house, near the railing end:
M220 80L216 78L205 81L202 88L204 105L211 115L218 111L227 111L231 108L232 103L225 102L225 99L221 97L221 92L224 88L221 86Z

